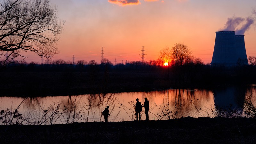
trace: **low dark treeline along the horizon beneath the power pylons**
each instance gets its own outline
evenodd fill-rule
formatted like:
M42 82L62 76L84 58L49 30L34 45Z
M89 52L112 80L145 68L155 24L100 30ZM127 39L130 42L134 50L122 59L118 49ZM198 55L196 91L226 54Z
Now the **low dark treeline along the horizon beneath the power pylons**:
M204 65L203 62L195 62L189 61L184 64L184 66L192 66L192 65ZM1 66L1 63L0 63ZM38 64L36 62L9 62L7 66L2 66L2 69L5 70L22 70L22 71L63 71L65 69L72 69L72 70L105 70L106 67L108 70L146 70L146 69L161 69L161 68L171 68L172 66L164 66L161 61L157 60L150 60L146 62L142 61L125 61L125 63L117 63L113 64L108 59L101 60L101 63L97 63L95 60L90 60L86 62L84 60L78 60L75 64L71 61L64 61L64 60L53 60L53 61L46 61L44 64Z

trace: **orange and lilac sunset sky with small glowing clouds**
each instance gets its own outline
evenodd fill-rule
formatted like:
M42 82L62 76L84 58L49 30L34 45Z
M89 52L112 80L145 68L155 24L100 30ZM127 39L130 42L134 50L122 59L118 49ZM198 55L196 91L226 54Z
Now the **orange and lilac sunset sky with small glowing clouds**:
M216 31L244 33L247 57L256 56L256 0L50 0L65 20L52 60L96 60L113 64L158 59L176 43L211 63ZM230 24L231 23L231 24ZM244 27L245 30L244 30ZM41 62L27 53L25 60Z

